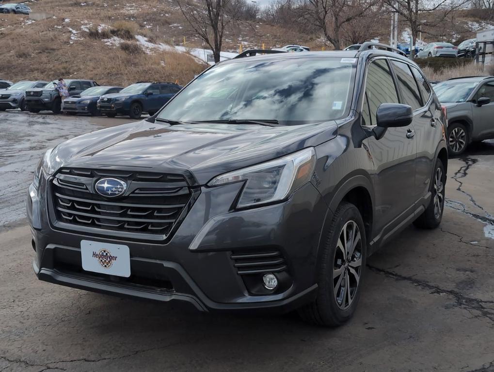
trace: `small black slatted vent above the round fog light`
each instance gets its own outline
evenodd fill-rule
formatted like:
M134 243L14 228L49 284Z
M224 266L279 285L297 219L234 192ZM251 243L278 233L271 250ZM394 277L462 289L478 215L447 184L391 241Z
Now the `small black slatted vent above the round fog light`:
M275 273L287 269L285 259L278 250L257 253L235 253L230 256L239 275Z

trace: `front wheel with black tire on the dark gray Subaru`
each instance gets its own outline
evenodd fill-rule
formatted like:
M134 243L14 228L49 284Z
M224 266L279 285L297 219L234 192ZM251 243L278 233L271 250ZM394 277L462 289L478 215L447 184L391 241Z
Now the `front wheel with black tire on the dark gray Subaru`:
M354 238L356 247L353 253L345 253L347 244L344 244L343 240L347 239L340 239L340 237L346 236L342 235L344 231L345 234L349 233L349 227L350 231L356 232ZM360 232L360 241L358 240L358 232ZM348 243L348 245L352 246L353 244ZM317 298L314 302L299 309L298 313L308 323L337 327L348 321L355 312L366 267L367 239L364 221L359 209L353 204L342 202L336 208L323 249L317 277ZM347 258L348 254L351 254L350 258ZM340 271L341 274L338 274ZM357 276L354 273L358 274L358 280L356 280ZM352 288L352 284L354 288ZM349 297L347 297L346 288L350 289ZM352 290L353 297L351 297Z

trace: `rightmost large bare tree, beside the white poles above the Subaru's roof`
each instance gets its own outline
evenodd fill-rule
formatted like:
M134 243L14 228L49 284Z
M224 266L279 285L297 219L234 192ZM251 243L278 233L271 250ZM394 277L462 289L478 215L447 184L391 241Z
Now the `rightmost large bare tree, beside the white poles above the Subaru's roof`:
M463 7L469 0L384 0L410 26L412 44L417 40L421 25L428 29L439 27L455 10ZM427 16L430 15L430 16ZM415 48L410 48L410 57L414 58Z

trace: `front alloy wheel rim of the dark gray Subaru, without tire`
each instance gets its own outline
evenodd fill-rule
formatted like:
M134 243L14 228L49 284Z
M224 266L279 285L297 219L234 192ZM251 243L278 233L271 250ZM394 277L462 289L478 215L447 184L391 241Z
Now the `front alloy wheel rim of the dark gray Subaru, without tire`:
M345 223L340 231L333 265L334 299L341 310L351 304L362 274L362 237L355 221Z

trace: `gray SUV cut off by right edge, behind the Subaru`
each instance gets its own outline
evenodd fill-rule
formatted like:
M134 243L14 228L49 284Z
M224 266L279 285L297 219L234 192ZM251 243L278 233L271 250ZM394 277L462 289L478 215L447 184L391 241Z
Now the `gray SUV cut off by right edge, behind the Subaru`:
M450 79L434 85L434 91L447 109L450 155L494 138L494 76Z

